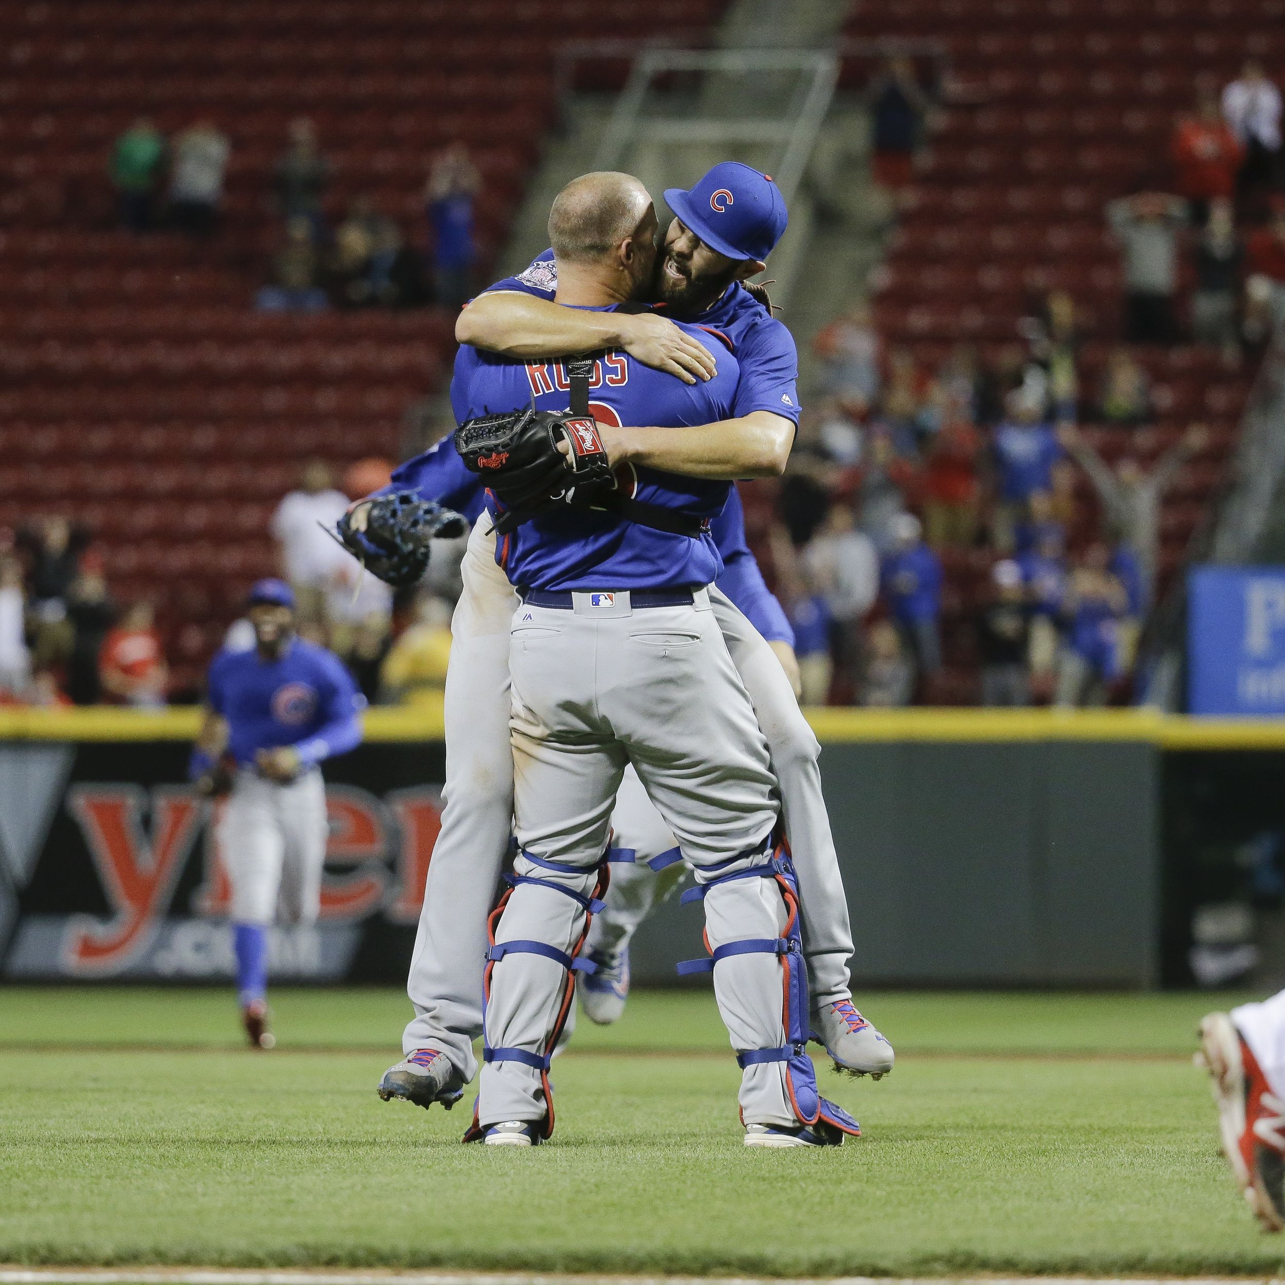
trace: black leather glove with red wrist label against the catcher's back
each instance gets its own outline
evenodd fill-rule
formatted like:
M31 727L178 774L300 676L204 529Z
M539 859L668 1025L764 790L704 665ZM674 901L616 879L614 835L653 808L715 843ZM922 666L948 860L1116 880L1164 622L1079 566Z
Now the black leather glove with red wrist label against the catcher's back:
M558 445L565 442L568 454ZM510 509L540 505L573 487L614 486L607 450L590 416L518 410L470 419L455 447Z

